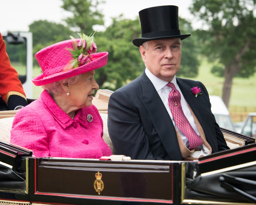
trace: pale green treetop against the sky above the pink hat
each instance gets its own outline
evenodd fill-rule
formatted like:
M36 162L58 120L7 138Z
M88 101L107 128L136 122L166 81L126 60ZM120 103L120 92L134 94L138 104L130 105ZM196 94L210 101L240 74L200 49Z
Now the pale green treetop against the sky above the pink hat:
M62 8L73 14L65 21L75 31L90 35L94 25L104 25L103 14L97 8L102 3L103 0L63 0Z

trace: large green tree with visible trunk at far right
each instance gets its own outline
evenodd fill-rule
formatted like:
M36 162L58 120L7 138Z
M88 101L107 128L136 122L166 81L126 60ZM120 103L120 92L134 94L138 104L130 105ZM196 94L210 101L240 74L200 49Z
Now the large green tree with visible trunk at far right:
M198 31L200 44L216 63L212 71L224 75L222 99L228 107L233 78L256 70L256 1L193 0L190 11L208 26Z

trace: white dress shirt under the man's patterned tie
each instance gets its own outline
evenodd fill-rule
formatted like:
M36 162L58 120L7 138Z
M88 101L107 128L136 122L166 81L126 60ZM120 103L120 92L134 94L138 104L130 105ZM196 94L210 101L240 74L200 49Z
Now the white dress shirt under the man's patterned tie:
M171 114L171 110L169 108L169 103L168 103L168 97L169 97L169 93L171 91L171 88L168 87L166 84L168 82L164 81L164 80L161 80L160 78L154 76L147 68L145 69L145 73L147 75L147 77L149 78L149 80L152 82L154 88L156 89L157 93L159 94L161 100L163 101L163 104L172 120L172 123L174 125L174 127L178 130L183 142L185 143L186 147L189 147L189 142L188 142L188 139L187 137L179 130L179 128L176 126L176 123L173 119L173 116ZM184 115L186 116L186 118L188 119L188 122L190 123L190 125L193 127L193 129L196 131L196 133L200 136L199 134L199 131L197 129L197 126L196 126L196 123L195 123L195 120L194 120L194 117L193 115L191 114L189 108L188 108L188 105L187 105L187 102L177 84L177 81L176 81L176 76L174 76L174 78L172 79L171 81L176 89L180 92L180 95L181 95L181 107L182 107L182 110L184 112ZM197 151L199 152L199 151ZM209 150L207 147L205 147L203 145L202 147L202 152L203 153L198 153L196 154L196 156L193 156L193 157L198 157L200 155L208 155L209 154ZM208 154L207 154L208 153ZM193 153L194 154L194 153ZM198 156L197 156L198 155ZM192 156L192 155L191 155Z

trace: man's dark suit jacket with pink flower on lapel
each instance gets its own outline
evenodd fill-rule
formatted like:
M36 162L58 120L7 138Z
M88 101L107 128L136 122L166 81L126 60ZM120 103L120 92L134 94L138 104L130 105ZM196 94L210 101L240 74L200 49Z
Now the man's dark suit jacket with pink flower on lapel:
M212 152L228 149L211 112L204 85L182 78L177 78L177 83L198 118ZM198 97L191 92L196 86L202 93ZM182 160L175 127L145 71L110 96L108 132L116 154L132 159Z

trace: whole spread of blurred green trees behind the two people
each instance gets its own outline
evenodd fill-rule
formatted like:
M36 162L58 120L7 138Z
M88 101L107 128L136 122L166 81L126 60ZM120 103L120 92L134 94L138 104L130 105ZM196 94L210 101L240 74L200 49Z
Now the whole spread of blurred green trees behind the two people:
M66 25L48 21L35 21L30 25L33 33L34 54L41 48L75 36L77 32L90 35L97 26L104 27L103 15L98 5L102 0L62 0L62 8L73 16L65 19ZM255 0L193 0L191 13L205 25L193 30L186 19L179 19L182 34L191 37L182 42L181 69L177 76L196 78L203 57L211 62L211 71L224 76L221 95L228 106L234 77L252 76L256 70L256 9ZM141 37L139 17L135 20L121 16L112 24L95 33L97 52L109 52L108 63L95 74L101 89L116 90L140 76L145 66L139 48L132 39ZM35 61L36 64L36 61Z

